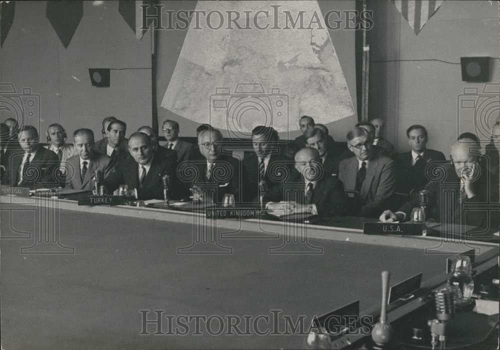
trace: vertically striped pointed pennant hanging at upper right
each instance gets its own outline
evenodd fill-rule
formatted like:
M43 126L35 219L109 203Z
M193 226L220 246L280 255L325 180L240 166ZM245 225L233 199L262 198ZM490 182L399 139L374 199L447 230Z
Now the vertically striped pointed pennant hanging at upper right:
M395 0L394 4L415 34L418 34L442 2L443 0Z

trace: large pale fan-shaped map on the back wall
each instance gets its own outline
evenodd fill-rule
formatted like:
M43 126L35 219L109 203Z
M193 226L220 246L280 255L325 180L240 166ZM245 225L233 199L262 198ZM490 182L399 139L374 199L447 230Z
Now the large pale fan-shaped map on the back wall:
M296 130L304 114L325 124L354 114L317 1L198 1L195 10L161 107L231 137L261 124Z

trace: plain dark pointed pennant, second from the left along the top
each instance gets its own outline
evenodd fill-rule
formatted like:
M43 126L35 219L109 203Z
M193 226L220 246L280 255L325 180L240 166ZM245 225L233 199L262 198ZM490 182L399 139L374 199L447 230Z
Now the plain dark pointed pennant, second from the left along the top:
M46 16L67 47L83 16L83 1L47 1Z

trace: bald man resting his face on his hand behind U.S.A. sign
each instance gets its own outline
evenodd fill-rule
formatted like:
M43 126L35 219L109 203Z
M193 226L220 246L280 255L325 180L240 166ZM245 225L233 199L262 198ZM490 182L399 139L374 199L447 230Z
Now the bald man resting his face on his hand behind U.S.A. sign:
M438 222L448 224L465 223L480 227L488 225L485 210L467 210L467 204L473 206L474 203L488 202L488 185L484 176L487 171L480 168L480 155L472 148L470 143L463 142L463 139L455 142L450 149L452 165L444 167L444 179L430 181L425 185L424 189L428 191L429 201L427 219L433 218ZM443 198L446 201L443 201ZM407 220L412 208L419 205L419 198L415 196L396 212L385 210L380 215L380 221ZM460 211L463 205L465 205L465 216L461 217Z

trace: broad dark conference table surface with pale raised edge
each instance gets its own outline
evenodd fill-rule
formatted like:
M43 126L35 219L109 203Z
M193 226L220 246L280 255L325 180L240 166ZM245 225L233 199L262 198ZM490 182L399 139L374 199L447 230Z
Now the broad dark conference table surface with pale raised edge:
M435 288L451 255L474 249L478 272L498 263L497 242L363 234L362 218L348 228L0 200L5 350L303 348L314 316L359 300L376 318L382 270L390 284L422 272L422 288ZM389 305L389 320L422 302Z

